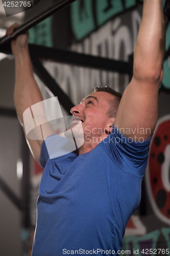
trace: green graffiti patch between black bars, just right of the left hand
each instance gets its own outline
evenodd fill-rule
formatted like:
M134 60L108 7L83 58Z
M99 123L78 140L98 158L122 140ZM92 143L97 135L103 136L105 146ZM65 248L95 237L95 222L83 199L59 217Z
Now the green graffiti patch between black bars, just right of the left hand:
M29 43L53 47L52 17L44 19L29 30Z

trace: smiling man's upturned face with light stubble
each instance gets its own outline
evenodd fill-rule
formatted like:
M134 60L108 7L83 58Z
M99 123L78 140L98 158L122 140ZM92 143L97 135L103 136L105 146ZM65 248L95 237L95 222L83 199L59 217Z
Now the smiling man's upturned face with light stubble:
M74 116L69 129L71 128L79 135L83 128L85 143L98 144L108 136L107 127L113 125L114 118L109 119L106 114L110 107L108 103L110 99L113 100L114 96L107 92L95 92L88 95L79 105L71 109Z

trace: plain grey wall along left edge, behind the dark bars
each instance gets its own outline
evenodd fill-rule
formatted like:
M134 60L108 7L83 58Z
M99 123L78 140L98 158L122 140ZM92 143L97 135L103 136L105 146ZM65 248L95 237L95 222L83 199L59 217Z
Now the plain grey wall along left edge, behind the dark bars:
M14 108L14 59L0 61L0 108ZM21 126L17 118L0 115L0 177L21 197L16 162L21 157ZM0 188L0 254L21 255L21 212Z

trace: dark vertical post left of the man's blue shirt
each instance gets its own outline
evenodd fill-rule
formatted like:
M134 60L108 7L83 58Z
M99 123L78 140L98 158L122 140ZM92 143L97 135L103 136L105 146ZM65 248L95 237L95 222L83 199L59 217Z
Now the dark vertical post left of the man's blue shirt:
M21 128L22 130L22 128ZM23 201L23 215L22 222L25 227L30 227L30 150L26 142L25 135L22 132L22 163L23 163L23 176L22 176L22 201Z

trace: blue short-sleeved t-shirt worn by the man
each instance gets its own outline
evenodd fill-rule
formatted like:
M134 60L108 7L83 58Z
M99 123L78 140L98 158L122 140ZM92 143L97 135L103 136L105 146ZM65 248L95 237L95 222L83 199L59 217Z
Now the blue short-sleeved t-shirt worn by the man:
M112 133L90 152L59 157L48 154L46 145L55 149L61 137L45 140L32 256L121 250L127 222L140 203L151 138L128 140L113 125Z

